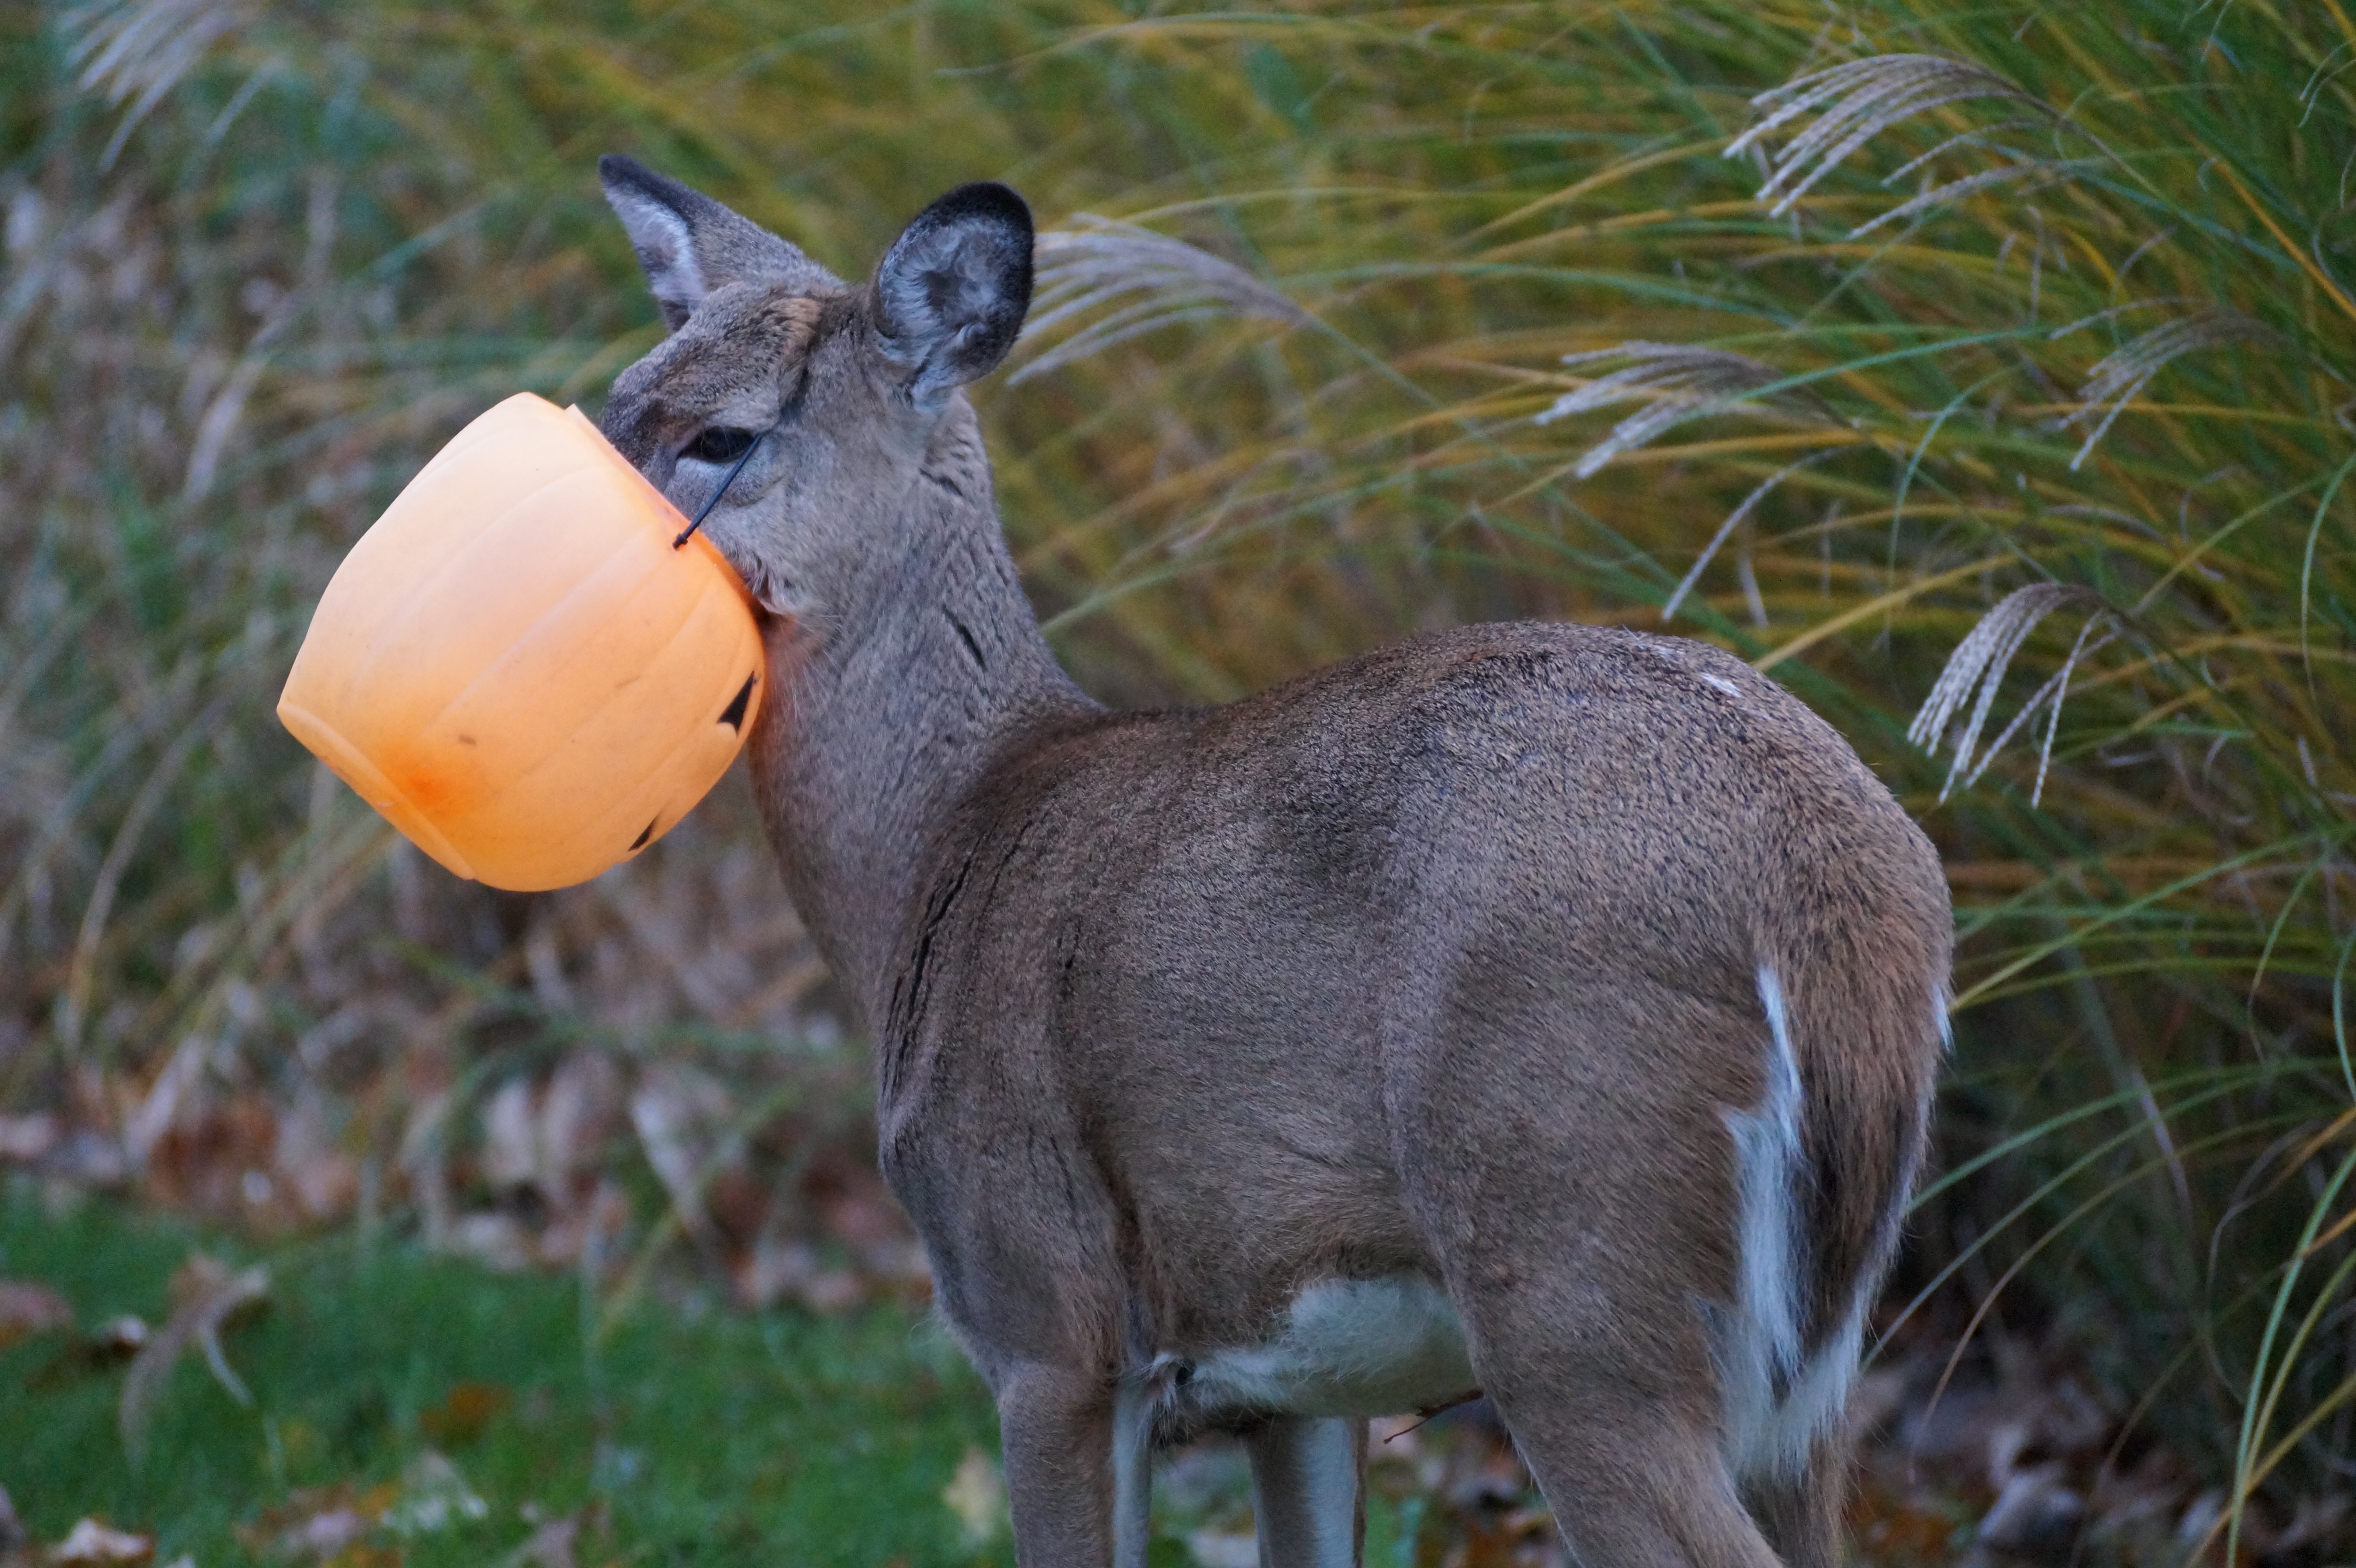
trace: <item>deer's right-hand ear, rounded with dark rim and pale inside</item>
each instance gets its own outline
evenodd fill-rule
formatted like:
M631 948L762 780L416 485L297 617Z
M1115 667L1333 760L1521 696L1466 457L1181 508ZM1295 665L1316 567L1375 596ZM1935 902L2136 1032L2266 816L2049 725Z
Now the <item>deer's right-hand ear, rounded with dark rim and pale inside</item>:
M874 280L884 353L916 407L990 374L1030 308L1032 221L999 184L959 186L916 214Z

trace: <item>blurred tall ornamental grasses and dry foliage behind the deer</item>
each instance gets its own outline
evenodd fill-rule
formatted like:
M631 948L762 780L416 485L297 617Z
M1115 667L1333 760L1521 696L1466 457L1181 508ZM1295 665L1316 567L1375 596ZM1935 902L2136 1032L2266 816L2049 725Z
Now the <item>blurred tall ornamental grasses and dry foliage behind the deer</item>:
M1963 932L1890 1356L2094 1410L1998 1500L2337 1549L2342 0L0 2L0 1156L841 1307L921 1264L742 784L507 897L271 718L441 440L655 341L603 151L848 278L1025 191L1046 292L978 403L1112 702L1574 617L1816 704Z

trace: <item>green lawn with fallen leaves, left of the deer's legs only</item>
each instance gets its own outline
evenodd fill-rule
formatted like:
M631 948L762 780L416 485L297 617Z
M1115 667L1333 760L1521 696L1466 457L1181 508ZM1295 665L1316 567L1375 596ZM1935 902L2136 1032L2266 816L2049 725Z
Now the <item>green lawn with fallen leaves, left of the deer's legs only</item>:
M125 1311L160 1328L191 1245L99 1205L49 1220L12 1194L0 1208L0 1274L49 1281L87 1328ZM570 1519L582 1563L975 1556L942 1493L966 1453L994 1450L997 1417L957 1349L902 1314L648 1302L605 1318L565 1278L349 1236L266 1267L264 1309L224 1337L250 1403L191 1351L137 1464L118 1436L120 1361L59 1333L0 1351L5 1483L38 1540L92 1514L153 1528L160 1563L342 1549L349 1568L429 1568L497 1561ZM389 1521L346 1526L356 1537L335 1547L316 1521L339 1511ZM327 1549L280 1544L306 1528Z

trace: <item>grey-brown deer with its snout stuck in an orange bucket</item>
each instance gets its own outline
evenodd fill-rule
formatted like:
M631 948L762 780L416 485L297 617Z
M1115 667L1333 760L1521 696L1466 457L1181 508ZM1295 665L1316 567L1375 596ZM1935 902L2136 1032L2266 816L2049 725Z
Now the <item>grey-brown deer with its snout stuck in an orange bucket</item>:
M1107 711L964 391L1023 327L1023 198L949 191L846 285L598 172L667 325L601 428L683 511L733 476L754 798L1015 1559L1143 1568L1154 1455L1230 1434L1260 1561L1343 1568L1369 1417L1484 1394L1586 1568L1833 1568L1953 944L1857 751L1588 624Z

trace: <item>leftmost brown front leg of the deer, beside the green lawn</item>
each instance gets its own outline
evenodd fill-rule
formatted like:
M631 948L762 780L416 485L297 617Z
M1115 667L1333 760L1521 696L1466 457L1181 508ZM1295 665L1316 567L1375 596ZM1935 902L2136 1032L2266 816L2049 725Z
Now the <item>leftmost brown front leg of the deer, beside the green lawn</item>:
M1006 1502L1023 1568L1112 1566L1110 1382L1025 1366L999 1384Z

